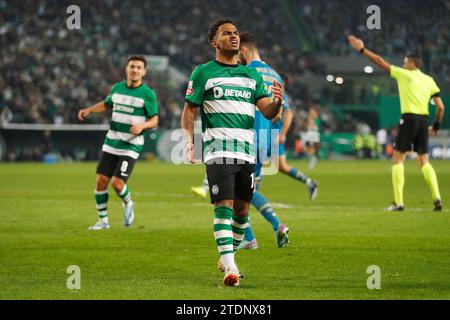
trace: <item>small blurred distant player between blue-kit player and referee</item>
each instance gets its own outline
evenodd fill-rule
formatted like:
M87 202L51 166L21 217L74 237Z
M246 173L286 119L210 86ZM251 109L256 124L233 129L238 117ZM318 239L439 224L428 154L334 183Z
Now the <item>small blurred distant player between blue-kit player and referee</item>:
M315 106L309 108L306 123L305 151L309 156L308 169L312 170L317 164L317 154L320 148L320 117L319 109Z

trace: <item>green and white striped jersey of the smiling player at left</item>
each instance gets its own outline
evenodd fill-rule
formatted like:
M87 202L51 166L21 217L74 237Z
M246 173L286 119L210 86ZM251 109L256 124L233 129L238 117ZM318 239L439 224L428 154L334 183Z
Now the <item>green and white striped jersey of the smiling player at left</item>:
M155 92L144 83L137 88L128 88L126 81L118 82L105 98L105 104L112 107L113 112L102 150L138 159L144 147L144 132L135 136L130 128L158 114Z

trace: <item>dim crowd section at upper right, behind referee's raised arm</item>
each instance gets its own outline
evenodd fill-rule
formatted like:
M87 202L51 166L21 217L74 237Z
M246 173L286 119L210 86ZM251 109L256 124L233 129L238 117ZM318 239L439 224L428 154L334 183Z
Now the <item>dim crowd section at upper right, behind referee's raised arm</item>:
M450 21L445 18L445 13L450 12L450 1L302 0L296 4L305 25L315 35L316 53L354 55L342 37L356 32L384 56L421 54L428 72L450 81ZM366 19L373 11L358 14L374 4L381 9L379 30L366 26Z

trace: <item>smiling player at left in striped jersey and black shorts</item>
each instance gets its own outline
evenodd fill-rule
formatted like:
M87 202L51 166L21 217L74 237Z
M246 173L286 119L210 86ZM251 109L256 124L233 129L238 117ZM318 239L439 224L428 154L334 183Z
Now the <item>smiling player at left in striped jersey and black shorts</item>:
M142 82L146 68L144 57L130 57L125 67L127 80L114 84L104 101L78 112L78 119L84 121L91 113L112 108L110 129L97 167L95 202L99 220L89 230L109 229L107 205L110 182L123 201L124 225L128 227L134 221L134 203L126 183L144 147L144 131L158 125L156 94Z

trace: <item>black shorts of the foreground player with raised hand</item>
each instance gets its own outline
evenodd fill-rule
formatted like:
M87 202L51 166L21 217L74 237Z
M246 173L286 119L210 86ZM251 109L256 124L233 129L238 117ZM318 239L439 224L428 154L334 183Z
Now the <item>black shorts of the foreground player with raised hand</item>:
M227 164L226 160L206 163L211 203L223 200L250 202L255 184L255 165L250 163Z

